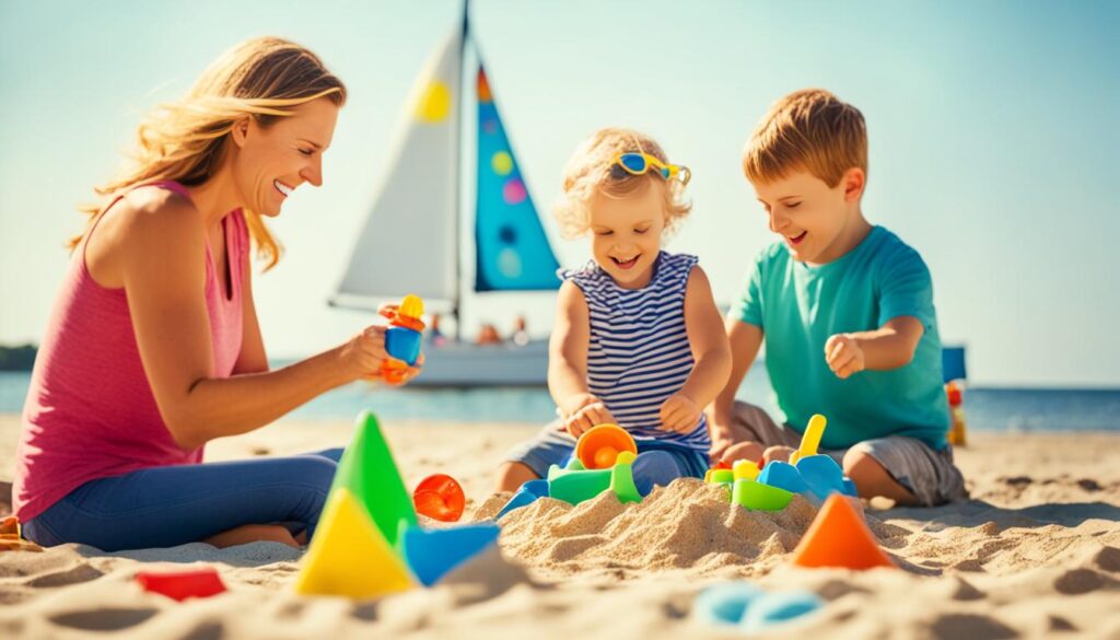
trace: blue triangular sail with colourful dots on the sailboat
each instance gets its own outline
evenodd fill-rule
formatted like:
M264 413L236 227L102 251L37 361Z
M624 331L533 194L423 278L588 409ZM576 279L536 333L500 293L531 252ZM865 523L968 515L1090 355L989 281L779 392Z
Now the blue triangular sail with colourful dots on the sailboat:
M482 65L477 91L475 290L557 289L559 263L521 176Z

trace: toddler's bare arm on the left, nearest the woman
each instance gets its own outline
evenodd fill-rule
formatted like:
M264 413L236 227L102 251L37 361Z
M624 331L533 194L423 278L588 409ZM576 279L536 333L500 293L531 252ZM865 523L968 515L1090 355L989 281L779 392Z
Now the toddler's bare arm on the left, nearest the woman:
M557 319L549 338L549 392L568 432L579 435L595 425L613 423L606 406L587 388L587 349L591 316L579 287L566 281L557 295Z

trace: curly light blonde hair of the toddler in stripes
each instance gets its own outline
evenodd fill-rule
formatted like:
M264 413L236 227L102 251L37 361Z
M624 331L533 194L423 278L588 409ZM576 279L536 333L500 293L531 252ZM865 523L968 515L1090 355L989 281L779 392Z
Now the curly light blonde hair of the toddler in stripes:
M669 164L665 151L653 138L629 129L599 129L580 143L568 160L563 171L563 193L553 208L560 232L564 238L577 238L587 232L588 203L595 195L628 197L644 189L661 188L664 196L665 231L670 232L688 215L691 203L683 202L684 185L676 179L665 179L655 171L641 176L615 170L618 154L648 154Z

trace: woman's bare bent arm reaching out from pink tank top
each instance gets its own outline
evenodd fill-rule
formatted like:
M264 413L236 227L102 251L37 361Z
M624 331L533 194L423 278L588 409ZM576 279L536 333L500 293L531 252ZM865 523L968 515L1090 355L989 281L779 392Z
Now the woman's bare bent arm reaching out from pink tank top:
M370 327L339 347L274 372L215 378L202 214L180 197L120 208L114 214L121 216L118 265L137 346L160 415L179 446L194 448L262 427L380 369L384 330Z

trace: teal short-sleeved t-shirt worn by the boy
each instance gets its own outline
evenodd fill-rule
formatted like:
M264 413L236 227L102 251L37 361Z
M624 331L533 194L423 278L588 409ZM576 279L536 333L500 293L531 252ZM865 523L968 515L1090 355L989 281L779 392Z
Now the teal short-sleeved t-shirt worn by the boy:
M909 364L847 380L832 373L824 361L829 336L872 331L898 316L925 326ZM903 435L944 448L949 404L933 280L917 251L890 231L875 226L858 247L816 267L794 260L784 243L772 244L752 268L731 317L762 327L780 418L795 430L823 414L823 447Z

